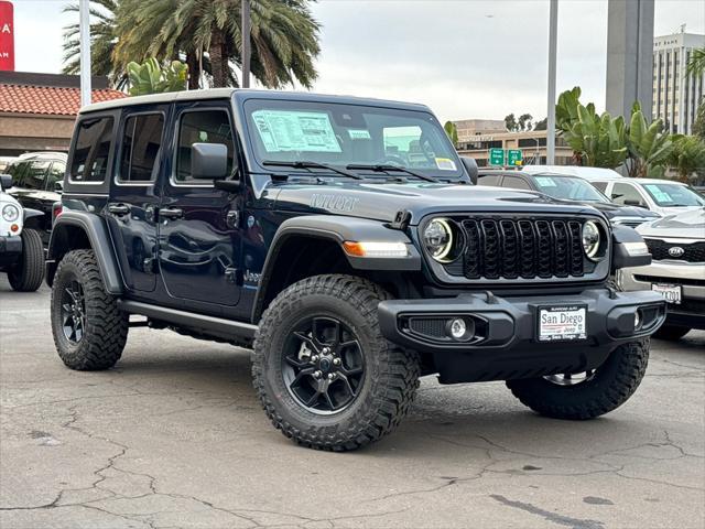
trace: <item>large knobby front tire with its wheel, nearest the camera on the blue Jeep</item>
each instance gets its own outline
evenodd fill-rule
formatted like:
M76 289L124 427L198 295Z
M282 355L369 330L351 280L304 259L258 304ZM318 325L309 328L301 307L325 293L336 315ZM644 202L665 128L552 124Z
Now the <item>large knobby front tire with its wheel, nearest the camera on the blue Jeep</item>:
M345 451L391 432L419 386L414 353L381 334L380 287L351 276L292 284L264 311L253 385L267 415L302 445Z

